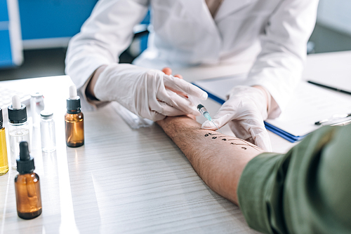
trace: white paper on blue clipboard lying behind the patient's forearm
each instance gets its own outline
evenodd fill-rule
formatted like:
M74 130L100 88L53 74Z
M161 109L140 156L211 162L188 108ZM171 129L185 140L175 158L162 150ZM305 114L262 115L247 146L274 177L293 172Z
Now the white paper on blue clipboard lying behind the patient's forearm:
M195 81L194 84L208 92L208 97L223 104L225 96L234 85L240 85L245 75ZM279 118L265 121L268 130L291 142L300 140L320 128L316 121L331 118L335 114L351 112L351 96L340 95L305 81L301 81L291 101ZM268 124L267 124L268 123Z

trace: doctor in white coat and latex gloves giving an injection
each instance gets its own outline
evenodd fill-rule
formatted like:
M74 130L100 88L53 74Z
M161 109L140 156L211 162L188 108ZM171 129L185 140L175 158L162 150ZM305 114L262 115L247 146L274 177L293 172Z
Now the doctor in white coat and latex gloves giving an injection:
M246 83L232 88L213 119L270 151L263 121L279 116L300 79L317 5L318 0L100 0L69 42L66 73L91 104L117 101L157 121L197 114L186 97L207 97L160 69L252 61ZM153 32L147 50L133 64L119 64L133 27L149 8ZM208 122L202 128L215 129Z

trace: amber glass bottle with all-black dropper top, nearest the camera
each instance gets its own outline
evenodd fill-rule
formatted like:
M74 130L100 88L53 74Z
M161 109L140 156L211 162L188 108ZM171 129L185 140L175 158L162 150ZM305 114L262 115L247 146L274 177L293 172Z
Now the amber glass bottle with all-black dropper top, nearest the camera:
M20 142L15 191L17 214L22 219L34 219L41 214L39 176L34 169L34 158L29 155L28 143Z

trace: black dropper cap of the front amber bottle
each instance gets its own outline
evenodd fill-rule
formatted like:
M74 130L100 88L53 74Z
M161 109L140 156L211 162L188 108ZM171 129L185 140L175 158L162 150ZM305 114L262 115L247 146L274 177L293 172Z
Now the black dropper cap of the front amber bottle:
M34 158L29 154L27 142L20 142L20 158L17 158L16 161L17 171L20 174L28 174L34 171Z

